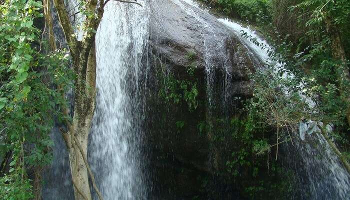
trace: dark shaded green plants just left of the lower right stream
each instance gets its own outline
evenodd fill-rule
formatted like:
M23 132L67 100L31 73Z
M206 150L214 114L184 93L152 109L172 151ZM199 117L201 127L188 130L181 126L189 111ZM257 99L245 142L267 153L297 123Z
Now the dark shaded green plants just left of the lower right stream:
M256 125L250 113L245 119L232 118L230 132L235 150L226 161L226 170L239 182L242 194L249 199L288 199L293 174L271 159L270 141L261 135L266 129Z

